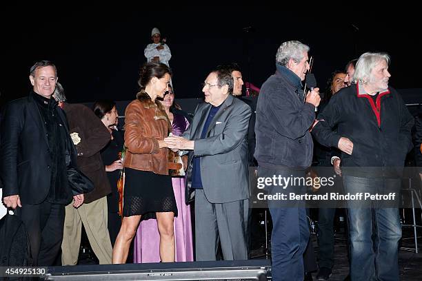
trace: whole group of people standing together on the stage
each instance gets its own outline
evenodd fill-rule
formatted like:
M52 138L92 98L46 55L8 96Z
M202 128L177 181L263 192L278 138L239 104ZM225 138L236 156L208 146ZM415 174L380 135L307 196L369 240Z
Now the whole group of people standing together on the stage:
M333 167L347 192L399 192L399 176L385 171L403 167L414 118L388 85L388 54L350 61L332 74L321 100L318 87L303 87L310 48L287 41L257 100L241 97L239 65L219 65L205 76L205 102L190 118L174 103L171 53L157 28L152 41L124 133L114 101L67 103L50 61L30 68L28 97L3 108L3 203L26 226L34 266L53 265L60 252L61 264L77 264L82 225L100 264L125 263L132 251L134 262L247 260L250 167L261 178L305 178L316 158ZM347 209L350 280L399 280L399 209L356 204ZM303 200L268 201L273 280L306 278L305 207ZM319 210L318 280L328 280L334 266L334 213Z

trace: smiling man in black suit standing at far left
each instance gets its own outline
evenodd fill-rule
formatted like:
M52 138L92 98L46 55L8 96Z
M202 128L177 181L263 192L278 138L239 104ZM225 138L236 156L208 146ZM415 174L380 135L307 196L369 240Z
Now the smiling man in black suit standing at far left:
M50 266L63 238L64 209L83 203L68 183L67 167L76 167L76 151L64 112L51 98L57 70L50 61L30 69L33 90L3 111L0 177L3 202L15 209L28 231L34 265Z

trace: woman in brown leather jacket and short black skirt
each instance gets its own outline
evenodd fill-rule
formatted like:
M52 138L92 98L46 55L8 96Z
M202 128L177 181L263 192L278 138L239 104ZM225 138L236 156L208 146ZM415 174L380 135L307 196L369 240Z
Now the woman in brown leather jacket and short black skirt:
M174 262L173 220L177 205L168 169L174 154L164 138L171 132L170 120L157 97L163 98L170 83L170 68L157 62L141 67L141 90L125 111L125 187L123 220L114 244L112 262L124 263L139 222L157 218L161 262Z

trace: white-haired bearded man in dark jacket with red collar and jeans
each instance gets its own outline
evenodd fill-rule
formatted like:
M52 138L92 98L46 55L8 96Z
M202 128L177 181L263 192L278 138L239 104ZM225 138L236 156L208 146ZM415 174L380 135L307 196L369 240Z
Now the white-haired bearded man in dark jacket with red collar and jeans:
M399 93L388 86L389 63L388 54L362 54L352 85L331 98L312 130L316 141L341 150L346 194L391 192L399 197L405 157L413 147L414 118ZM369 198L347 202L352 280L399 280L401 226L396 203Z

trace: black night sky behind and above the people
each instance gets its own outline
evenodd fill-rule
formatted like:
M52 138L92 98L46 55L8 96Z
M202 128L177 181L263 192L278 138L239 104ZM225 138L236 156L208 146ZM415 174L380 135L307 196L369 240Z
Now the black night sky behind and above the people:
M383 12L333 6L337 11L314 12L299 2L294 8L206 3L3 6L0 105L28 94L30 66L43 59L57 65L70 102L134 99L139 66L145 62L143 49L154 27L172 52L177 98L200 98L201 83L212 67L231 61L243 68L244 81L261 87L275 70L277 48L288 40L310 45L321 88L332 71L343 70L350 59L367 51L390 54L390 85L421 87L422 24L411 7L403 14L392 7ZM321 2L324 5L332 4Z

